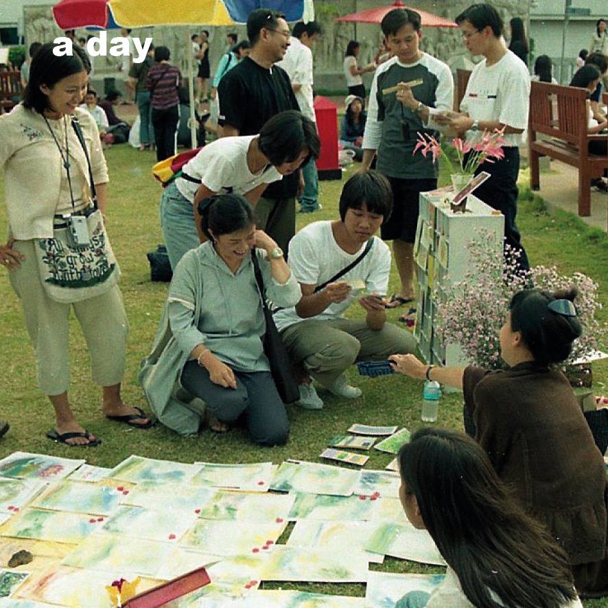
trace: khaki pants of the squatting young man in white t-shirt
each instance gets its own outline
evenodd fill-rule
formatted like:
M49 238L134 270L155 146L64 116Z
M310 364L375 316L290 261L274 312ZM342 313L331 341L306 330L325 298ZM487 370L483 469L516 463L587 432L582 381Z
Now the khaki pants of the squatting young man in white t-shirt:
M355 361L382 361L416 350L409 331L392 323L376 331L355 319L305 319L281 331L281 338L292 361L302 362L323 386L330 386Z

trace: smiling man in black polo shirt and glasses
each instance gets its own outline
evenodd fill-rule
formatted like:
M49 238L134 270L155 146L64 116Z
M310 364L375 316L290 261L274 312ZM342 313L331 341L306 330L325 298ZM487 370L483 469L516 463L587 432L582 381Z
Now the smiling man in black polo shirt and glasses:
M253 11L247 19L247 36L250 55L226 73L218 86L224 137L255 135L279 112L300 109L289 76L274 65L289 46L284 15L265 8ZM296 233L296 195L303 185L301 170L286 175L268 186L255 209L257 227L285 253Z

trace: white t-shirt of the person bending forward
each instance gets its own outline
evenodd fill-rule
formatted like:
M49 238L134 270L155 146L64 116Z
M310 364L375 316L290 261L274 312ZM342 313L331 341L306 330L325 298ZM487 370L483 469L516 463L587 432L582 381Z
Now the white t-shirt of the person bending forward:
M253 174L247 166L247 151L251 140L257 135L239 137L222 137L206 145L194 159L188 161L182 172L195 179L213 192L226 194L246 194L261 183L270 184L279 181L283 176L273 165L268 165L260 172ZM194 201L200 184L183 178L176 180L177 189L190 202Z

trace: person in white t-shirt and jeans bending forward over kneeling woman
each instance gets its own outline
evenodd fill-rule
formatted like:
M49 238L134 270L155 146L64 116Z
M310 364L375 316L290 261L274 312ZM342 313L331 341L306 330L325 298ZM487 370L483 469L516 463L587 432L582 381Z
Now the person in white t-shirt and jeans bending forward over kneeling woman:
M233 192L255 206L269 183L292 174L319 153L314 122L296 110L272 117L259 135L224 137L202 148L163 192L161 226L171 268L205 239L201 204L215 194Z

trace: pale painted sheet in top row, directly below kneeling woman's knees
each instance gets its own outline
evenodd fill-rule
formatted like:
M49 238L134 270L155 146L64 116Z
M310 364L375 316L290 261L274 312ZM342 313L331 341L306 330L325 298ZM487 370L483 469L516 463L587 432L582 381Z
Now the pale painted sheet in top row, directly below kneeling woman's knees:
M193 484L248 492L267 492L274 471L277 470L277 466L272 463L195 464L202 468L192 479Z

